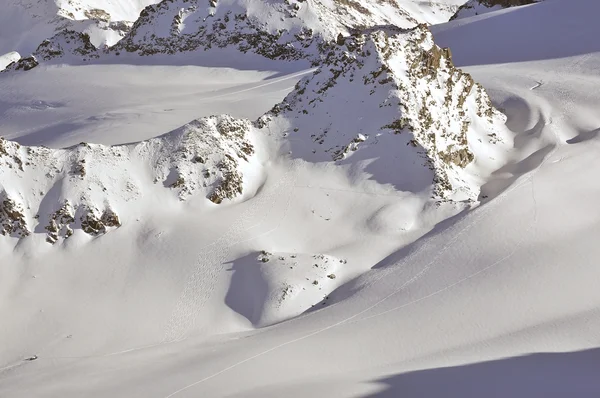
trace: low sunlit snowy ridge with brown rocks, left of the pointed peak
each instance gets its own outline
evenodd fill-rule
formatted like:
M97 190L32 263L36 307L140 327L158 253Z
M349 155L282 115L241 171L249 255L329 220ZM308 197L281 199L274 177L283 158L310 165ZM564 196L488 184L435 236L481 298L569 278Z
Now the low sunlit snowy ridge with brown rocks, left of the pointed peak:
M260 168L252 130L248 120L222 115L129 145L49 149L0 138L0 234L45 233L56 243L76 229L96 236L121 226L123 215L143 216L145 202L233 200L245 171Z

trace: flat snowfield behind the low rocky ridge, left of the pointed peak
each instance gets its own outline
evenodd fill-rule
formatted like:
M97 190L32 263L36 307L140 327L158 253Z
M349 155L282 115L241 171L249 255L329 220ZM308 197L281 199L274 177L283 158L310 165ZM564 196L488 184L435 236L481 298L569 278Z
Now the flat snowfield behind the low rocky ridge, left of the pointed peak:
M220 61L213 60L215 55ZM310 73L307 65L259 59L241 65L233 57L182 57L179 65L169 59L154 58L154 65L119 59L1 76L0 91L6 95L0 102L0 129L21 144L55 148L82 141L141 141L201 116L257 118Z

